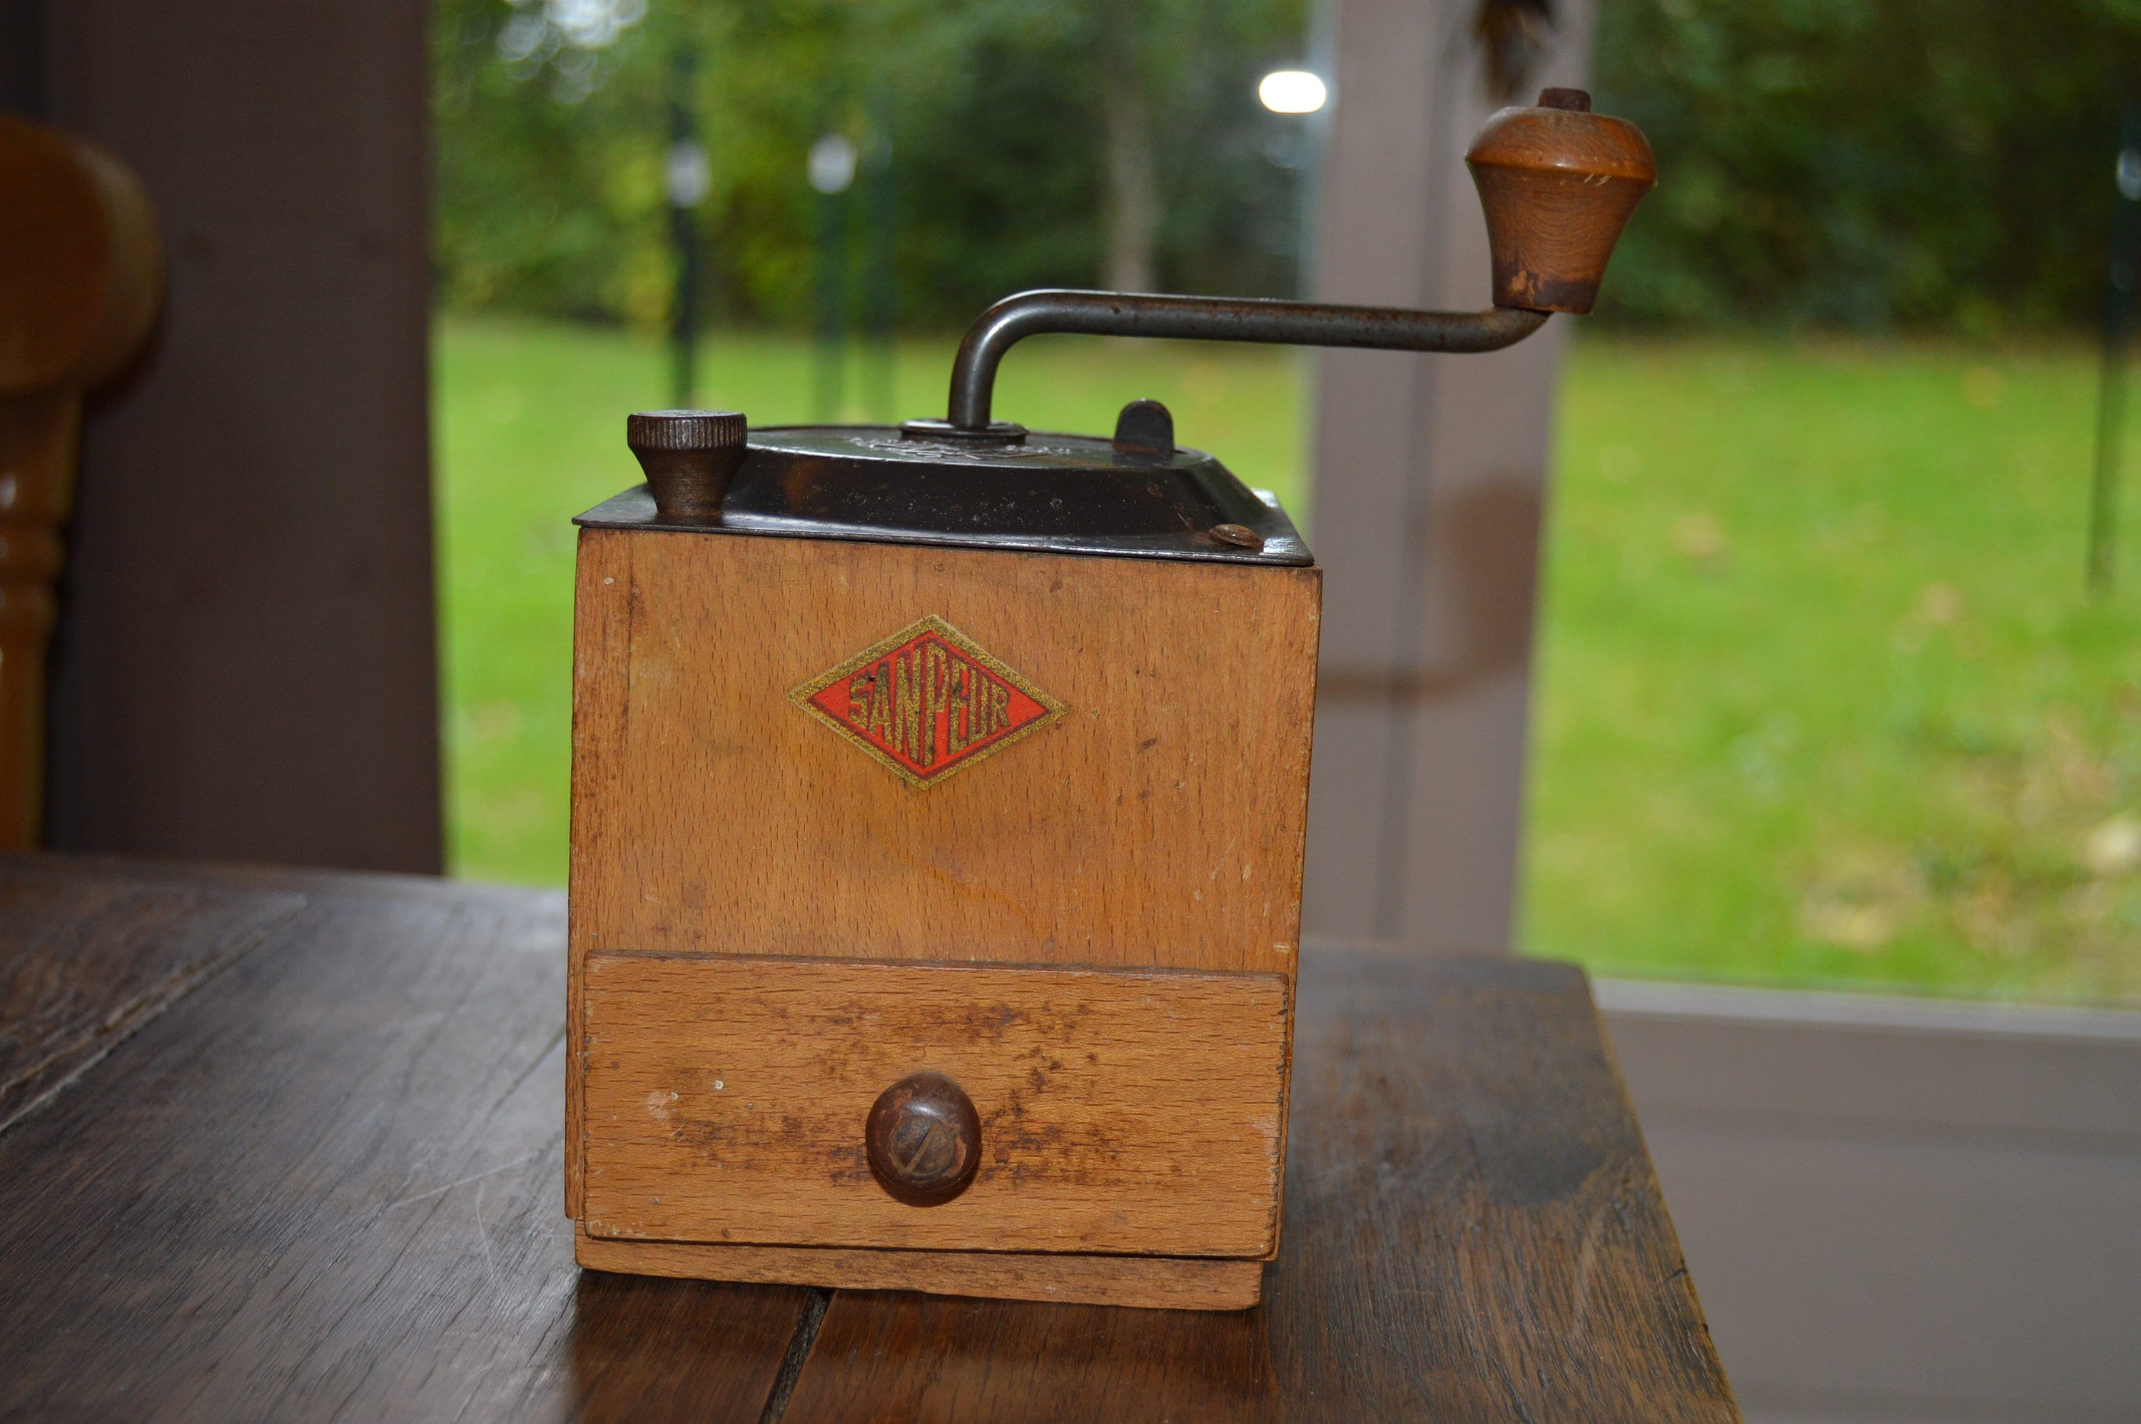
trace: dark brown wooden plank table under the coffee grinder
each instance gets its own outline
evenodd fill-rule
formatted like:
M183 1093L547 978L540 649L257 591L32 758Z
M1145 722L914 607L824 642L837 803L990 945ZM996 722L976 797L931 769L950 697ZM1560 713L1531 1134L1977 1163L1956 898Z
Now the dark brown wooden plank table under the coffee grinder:
M1734 1420L1582 976L1310 949L1235 1315L580 1272L561 895L0 859L0 1415Z

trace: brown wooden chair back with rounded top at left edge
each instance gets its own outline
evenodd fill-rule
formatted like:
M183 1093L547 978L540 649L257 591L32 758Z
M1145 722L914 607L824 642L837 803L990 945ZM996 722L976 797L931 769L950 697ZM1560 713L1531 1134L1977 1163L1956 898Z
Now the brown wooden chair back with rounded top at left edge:
M83 394L143 345L163 296L148 193L111 154L0 118L0 850L34 846L45 653Z

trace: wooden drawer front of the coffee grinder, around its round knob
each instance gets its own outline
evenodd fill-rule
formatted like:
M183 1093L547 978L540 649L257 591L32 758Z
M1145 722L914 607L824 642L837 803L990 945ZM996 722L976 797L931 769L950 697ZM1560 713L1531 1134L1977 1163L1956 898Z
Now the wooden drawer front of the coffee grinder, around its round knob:
M1285 974L595 953L595 1238L1267 1257ZM972 1186L895 1201L865 1118L944 1073L981 1116Z

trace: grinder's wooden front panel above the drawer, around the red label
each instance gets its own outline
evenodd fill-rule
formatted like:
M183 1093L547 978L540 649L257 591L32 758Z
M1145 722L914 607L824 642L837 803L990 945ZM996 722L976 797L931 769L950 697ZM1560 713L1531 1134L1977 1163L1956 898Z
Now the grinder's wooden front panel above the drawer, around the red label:
M580 540L582 946L1291 972L1319 570Z

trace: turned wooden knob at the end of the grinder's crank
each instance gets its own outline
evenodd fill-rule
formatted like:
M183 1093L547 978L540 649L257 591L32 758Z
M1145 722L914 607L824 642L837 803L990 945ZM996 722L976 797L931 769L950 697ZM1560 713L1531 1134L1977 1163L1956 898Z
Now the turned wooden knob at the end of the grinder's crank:
M1546 90L1537 107L1486 120L1464 163L1494 251L1494 306L1591 310L1612 244L1657 184L1642 131L1593 113L1582 90Z

